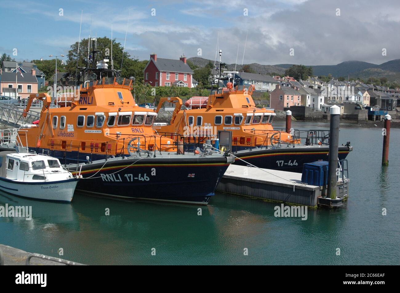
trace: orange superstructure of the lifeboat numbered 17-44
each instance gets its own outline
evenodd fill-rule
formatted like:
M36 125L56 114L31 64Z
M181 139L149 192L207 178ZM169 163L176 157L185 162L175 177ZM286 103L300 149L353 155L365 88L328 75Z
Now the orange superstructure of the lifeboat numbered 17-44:
M227 83L208 97L202 109L180 110L176 107L170 125L154 126L159 133L179 133L190 137L216 138L218 130L232 131L232 148L246 149L255 146L298 143L298 139L272 127L273 109L257 108L252 93L254 86L238 89ZM168 102L182 105L182 101L168 98ZM162 99L160 103L166 99ZM160 109L160 105L158 107ZM177 112L177 113L176 113Z

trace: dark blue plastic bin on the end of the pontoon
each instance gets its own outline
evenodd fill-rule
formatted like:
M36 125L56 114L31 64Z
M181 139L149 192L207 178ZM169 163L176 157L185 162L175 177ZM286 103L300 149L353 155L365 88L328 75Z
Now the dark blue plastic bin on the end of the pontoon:
M301 182L308 185L328 185L328 161L303 164Z

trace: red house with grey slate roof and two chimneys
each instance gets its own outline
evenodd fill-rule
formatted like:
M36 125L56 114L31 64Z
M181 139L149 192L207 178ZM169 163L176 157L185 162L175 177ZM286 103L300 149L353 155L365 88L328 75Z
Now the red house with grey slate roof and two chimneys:
M144 83L153 87L175 85L177 87L194 87L193 70L186 63L185 55L179 60L157 58L150 54L150 61L144 67Z

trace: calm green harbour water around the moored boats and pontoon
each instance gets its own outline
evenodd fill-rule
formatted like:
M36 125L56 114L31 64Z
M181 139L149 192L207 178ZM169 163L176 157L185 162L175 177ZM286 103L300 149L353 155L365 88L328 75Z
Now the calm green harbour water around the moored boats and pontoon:
M329 129L329 124L293 122L292 127ZM400 129L391 130L387 167L381 166L378 127L341 125L340 144L346 141L354 147L347 157L349 200L337 210L309 209L305 221L276 218L277 204L226 194L200 207L78 192L71 204L60 204L0 193L2 206L32 206L30 221L0 218L0 243L50 256L62 248L62 258L90 265L398 265Z

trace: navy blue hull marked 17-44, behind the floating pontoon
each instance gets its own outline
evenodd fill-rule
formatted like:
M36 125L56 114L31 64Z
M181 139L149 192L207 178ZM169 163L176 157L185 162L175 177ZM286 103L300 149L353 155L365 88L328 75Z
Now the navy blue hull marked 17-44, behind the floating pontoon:
M348 146L339 146L339 159L346 158L351 148ZM303 164L315 162L318 160L328 160L329 147L318 148L275 148L240 151L233 153L246 162L259 168L282 170L289 172L302 172ZM236 158L234 164L246 166L242 160Z

